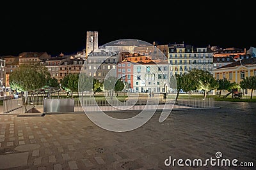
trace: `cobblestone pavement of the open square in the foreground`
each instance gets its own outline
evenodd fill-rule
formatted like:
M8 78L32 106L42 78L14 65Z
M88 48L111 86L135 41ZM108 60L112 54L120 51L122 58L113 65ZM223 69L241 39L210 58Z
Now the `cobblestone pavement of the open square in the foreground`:
M255 169L256 103L216 102L219 109L157 112L130 132L111 132L83 113L0 115L0 169ZM109 113L127 118L137 113ZM254 167L193 166L193 160L237 159ZM164 160L190 159L191 166ZM219 159L219 160L220 160ZM168 162L167 162L168 163ZM182 162L184 164L184 162ZM187 164L189 161L187 160Z

